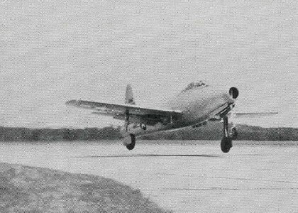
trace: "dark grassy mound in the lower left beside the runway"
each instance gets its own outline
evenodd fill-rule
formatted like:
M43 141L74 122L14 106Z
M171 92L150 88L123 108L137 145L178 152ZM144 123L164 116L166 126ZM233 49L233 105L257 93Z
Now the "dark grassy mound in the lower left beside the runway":
M165 211L115 180L0 163L0 212Z

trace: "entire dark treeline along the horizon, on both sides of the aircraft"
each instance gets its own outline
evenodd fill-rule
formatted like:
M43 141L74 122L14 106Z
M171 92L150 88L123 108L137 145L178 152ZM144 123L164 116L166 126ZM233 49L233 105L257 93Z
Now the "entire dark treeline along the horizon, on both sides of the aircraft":
M241 141L298 141L298 129L262 128L238 125L238 140ZM99 141L121 137L120 127L113 126L86 129L27 129L0 126L0 141ZM222 124L210 122L199 128L159 132L143 136L145 140L220 140Z

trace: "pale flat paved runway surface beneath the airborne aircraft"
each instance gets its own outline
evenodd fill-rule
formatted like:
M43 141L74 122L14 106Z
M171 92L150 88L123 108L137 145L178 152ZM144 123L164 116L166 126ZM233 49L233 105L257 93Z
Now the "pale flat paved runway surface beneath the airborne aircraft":
M297 142L108 143L1 142L0 161L113 178L175 212L298 212Z

